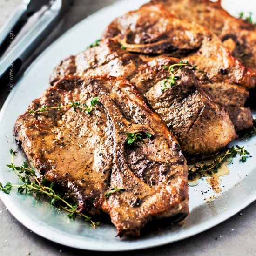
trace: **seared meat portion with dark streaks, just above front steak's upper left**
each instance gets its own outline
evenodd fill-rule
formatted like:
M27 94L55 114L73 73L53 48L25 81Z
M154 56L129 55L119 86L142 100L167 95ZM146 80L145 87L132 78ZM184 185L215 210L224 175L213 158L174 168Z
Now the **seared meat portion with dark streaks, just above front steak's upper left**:
M106 40L105 43L101 43L101 47L89 48L61 61L50 76L50 84L53 85L66 74L78 76L107 74L127 79L136 72L141 63L137 55L122 50L118 42Z

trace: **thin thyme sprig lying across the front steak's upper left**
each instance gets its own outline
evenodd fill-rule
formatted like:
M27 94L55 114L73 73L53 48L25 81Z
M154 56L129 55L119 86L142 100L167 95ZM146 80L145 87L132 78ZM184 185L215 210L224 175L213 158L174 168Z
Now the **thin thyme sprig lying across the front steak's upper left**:
M68 104L68 105L61 105L59 103L58 106L56 106L56 107L47 107L46 105L43 105L42 108L40 108L40 109L37 109L37 110L31 109L29 111L29 113L30 114L38 114L40 112L44 112L44 111L49 110L49 109L59 109L60 110L61 108L68 108L69 107L69 108L72 108L74 111L76 109L80 109L81 112L84 111L86 114L89 114L93 111L93 107L95 105L101 105L101 102L99 101L99 97L95 97L91 100L91 107L88 107L86 103L82 104L80 101L74 101L74 102L69 101L69 102L70 102L70 104Z

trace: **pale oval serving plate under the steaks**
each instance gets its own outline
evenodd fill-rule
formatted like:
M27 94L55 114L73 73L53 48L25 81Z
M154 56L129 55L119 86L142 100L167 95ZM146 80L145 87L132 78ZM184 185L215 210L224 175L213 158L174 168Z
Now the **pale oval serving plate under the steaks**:
M253 0L251 0L252 3ZM53 45L47 48L27 69L20 82L9 95L0 113L0 181L17 183L18 180L6 167L11 161L9 148L18 151L16 164L26 161L25 155L13 140L13 124L34 98L40 97L48 87L48 77L59 61L70 54L84 50L88 45L101 37L108 23L116 16L131 9L136 9L145 0L122 0L100 10L73 27ZM232 5L231 5L232 2ZM225 7L232 7L231 13L246 11L244 1L241 5L233 0L224 1ZM230 3L230 5L229 5ZM247 5L248 10L252 6ZM240 9L239 9L240 8ZM230 164L230 174L222 178L222 193L210 204L204 201L209 195L214 195L208 183L200 180L199 185L189 188L190 215L182 227L166 227L158 231L148 232L139 238L115 237L116 229L112 225L102 224L98 229L92 229L82 220L70 221L66 213L59 212L47 202L34 200L33 196L20 195L12 191L10 195L0 193L6 207L23 225L34 233L63 245L79 249L121 251L154 247L172 243L209 229L233 216L238 211L256 200L256 137L249 141L239 141L251 153L252 157L246 163L240 163L239 157ZM209 190L209 191L208 191ZM202 194L202 192L207 194Z

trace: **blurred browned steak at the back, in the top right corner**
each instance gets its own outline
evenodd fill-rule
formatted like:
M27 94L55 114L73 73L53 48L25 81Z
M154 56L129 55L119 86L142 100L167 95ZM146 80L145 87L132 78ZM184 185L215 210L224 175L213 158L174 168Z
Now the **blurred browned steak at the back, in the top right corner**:
M196 22L217 34L234 57L256 72L256 26L236 19L221 7L221 1L152 0L147 6L161 4L173 16Z

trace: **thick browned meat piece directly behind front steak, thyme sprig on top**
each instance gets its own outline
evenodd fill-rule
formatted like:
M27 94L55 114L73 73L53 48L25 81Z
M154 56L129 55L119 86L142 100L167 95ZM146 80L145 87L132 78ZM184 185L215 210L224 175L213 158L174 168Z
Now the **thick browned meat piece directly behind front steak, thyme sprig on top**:
M162 92L175 58L157 58L142 65L131 79L183 145L186 155L209 155L236 138L226 110L215 104L198 84L193 71L184 68L172 88Z

